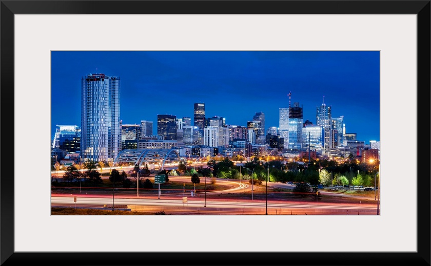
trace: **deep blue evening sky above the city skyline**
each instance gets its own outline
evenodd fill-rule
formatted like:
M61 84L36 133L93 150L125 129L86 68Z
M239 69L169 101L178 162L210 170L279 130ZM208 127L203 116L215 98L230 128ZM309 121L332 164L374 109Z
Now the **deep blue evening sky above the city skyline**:
M55 125L81 126L81 78L90 73L121 79L123 124L154 123L157 115L190 117L205 103L206 117L246 126L256 112L265 127L279 126L279 108L299 102L304 121L316 107L344 116L347 133L380 141L379 52L51 52L51 138Z

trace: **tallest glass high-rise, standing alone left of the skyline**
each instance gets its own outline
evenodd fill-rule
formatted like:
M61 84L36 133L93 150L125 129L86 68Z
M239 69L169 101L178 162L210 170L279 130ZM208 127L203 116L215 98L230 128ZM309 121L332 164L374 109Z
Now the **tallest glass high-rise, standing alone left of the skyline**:
M81 84L81 160L114 161L121 149L120 77L88 74Z

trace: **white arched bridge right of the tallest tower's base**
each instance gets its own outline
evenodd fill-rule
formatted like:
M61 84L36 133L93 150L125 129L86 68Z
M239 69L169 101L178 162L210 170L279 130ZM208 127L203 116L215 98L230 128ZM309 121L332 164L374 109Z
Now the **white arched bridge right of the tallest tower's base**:
M174 149L125 149L120 151L114 160L114 165L122 162L138 164L139 167L144 163L161 163L164 169L165 163L185 161L180 158L177 150Z

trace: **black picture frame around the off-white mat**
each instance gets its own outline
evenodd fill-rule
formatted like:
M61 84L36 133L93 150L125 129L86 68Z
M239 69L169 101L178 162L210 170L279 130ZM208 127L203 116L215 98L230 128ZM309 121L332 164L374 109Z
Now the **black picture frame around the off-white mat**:
M144 11L144 12L142 12ZM1 1L0 264L430 265L430 1ZM417 252L14 252L15 14L416 14ZM420 130L419 130L420 129ZM418 143L419 145L419 143ZM422 166L422 167L420 167ZM419 180L420 179L420 180ZM394 232L395 233L395 232ZM311 239L310 239L311 241ZM144 254L143 254L144 253Z

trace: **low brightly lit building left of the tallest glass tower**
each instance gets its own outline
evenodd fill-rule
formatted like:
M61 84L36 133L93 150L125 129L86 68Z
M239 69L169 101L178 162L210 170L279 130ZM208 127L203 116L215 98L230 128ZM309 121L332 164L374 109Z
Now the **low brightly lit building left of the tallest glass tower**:
M56 126L52 148L68 152L80 152L81 128L77 125Z

